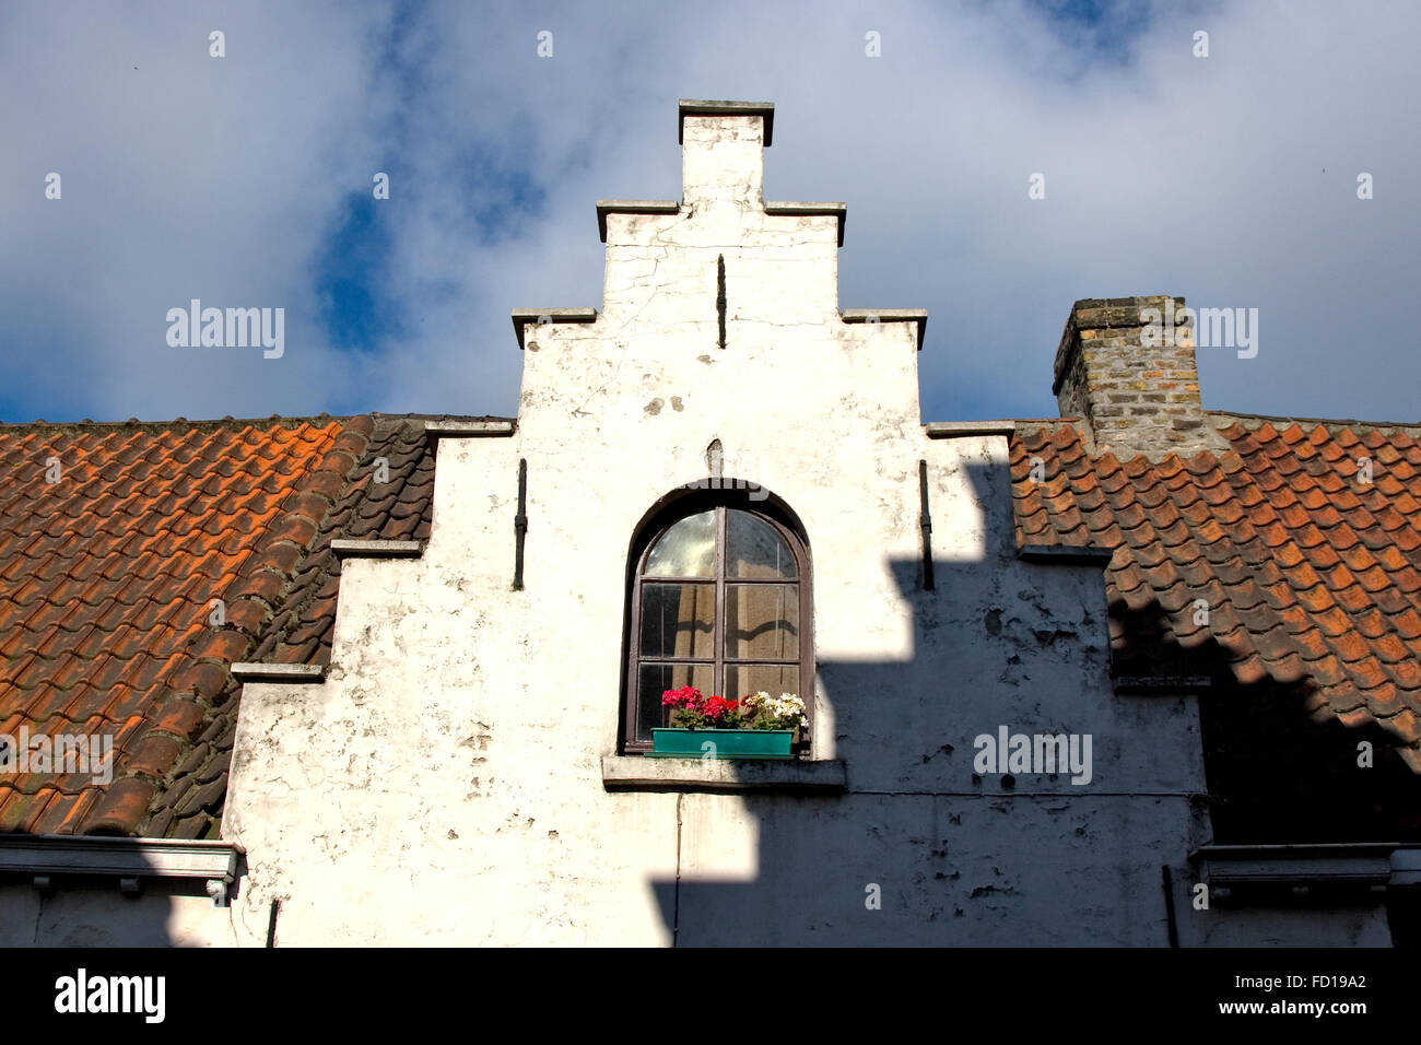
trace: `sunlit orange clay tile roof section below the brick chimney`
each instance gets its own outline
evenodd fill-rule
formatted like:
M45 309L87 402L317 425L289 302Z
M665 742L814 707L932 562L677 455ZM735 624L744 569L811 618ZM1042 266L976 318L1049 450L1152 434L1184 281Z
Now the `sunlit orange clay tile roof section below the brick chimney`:
M1421 773L1418 432L1223 421L1222 458L1140 455L1123 465L1090 456L1067 421L1022 431L1012 454L1017 545L1117 550L1106 572L1117 664L1150 664L1160 650L1212 637L1241 684L1303 681L1317 714L1380 725ZM1030 456L1064 483L1039 489ZM1086 491L1104 498L1087 502ZM1211 607L1205 627L1198 599ZM1158 621L1144 623L1148 614Z

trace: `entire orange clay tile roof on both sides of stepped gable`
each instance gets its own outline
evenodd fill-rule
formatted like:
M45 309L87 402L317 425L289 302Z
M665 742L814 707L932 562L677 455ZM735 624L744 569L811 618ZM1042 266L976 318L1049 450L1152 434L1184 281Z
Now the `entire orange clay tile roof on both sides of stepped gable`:
M1117 682L1209 644L1238 685L1306 682L1314 719L1380 727L1421 773L1417 427L1212 417L1226 452L1162 461L1093 455L1073 418L938 435L1009 438L1022 547L1113 553ZM215 837L232 665L330 660L341 542L429 535L426 427L509 422L0 427L0 734L117 736L108 786L0 779L0 832ZM1363 454L1374 475L1358 485ZM61 481L45 482L54 461ZM1162 645L1128 626L1145 610L1164 623Z

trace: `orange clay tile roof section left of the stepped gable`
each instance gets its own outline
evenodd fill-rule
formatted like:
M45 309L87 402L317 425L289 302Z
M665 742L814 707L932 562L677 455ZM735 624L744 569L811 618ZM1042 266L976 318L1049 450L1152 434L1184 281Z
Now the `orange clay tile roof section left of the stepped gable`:
M0 734L114 745L107 785L0 773L0 832L215 837L230 665L327 663L331 540L429 535L416 417L0 425Z

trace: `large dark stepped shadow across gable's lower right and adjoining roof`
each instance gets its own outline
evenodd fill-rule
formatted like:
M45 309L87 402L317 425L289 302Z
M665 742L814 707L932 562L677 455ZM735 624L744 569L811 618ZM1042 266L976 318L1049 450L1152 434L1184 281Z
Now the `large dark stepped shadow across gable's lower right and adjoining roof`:
M1215 640L1174 644L1158 603L1107 606L1098 567L1020 562L1006 469L968 473L988 518L985 556L935 557L931 591L921 562L888 562L911 610L911 655L817 665L848 792L679 796L676 879L649 881L674 944L1168 945L1198 845L1421 837L1421 781L1380 729L1314 721L1306 684L1239 684ZM1107 617L1157 674L1214 685L1198 700L1114 692L1111 668L1141 672L1111 664ZM975 773L972 738L999 724L1094 732L1096 789ZM1360 741L1374 768L1358 765ZM688 864L716 859L726 818L753 825L747 879ZM736 846L746 833L720 837ZM1184 930L1185 945L1202 941Z

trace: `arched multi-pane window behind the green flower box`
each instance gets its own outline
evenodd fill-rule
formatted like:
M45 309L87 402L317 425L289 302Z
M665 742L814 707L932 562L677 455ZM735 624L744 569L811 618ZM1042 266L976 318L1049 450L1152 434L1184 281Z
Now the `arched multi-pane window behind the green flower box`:
M745 498L737 498L742 503ZM789 513L696 498L662 513L634 546L622 749L649 751L661 697L799 694L813 731L809 554Z

